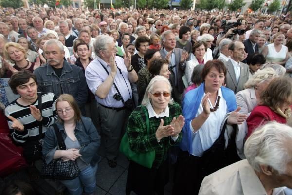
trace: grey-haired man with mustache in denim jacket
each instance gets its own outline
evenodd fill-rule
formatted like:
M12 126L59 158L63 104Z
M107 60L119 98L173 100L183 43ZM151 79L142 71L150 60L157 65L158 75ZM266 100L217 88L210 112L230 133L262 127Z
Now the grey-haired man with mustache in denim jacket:
M34 73L39 81L38 90L60 94L71 94L85 114L84 105L87 101L87 85L81 68L64 60L63 44L55 39L46 41L44 54L47 64L37 68Z

